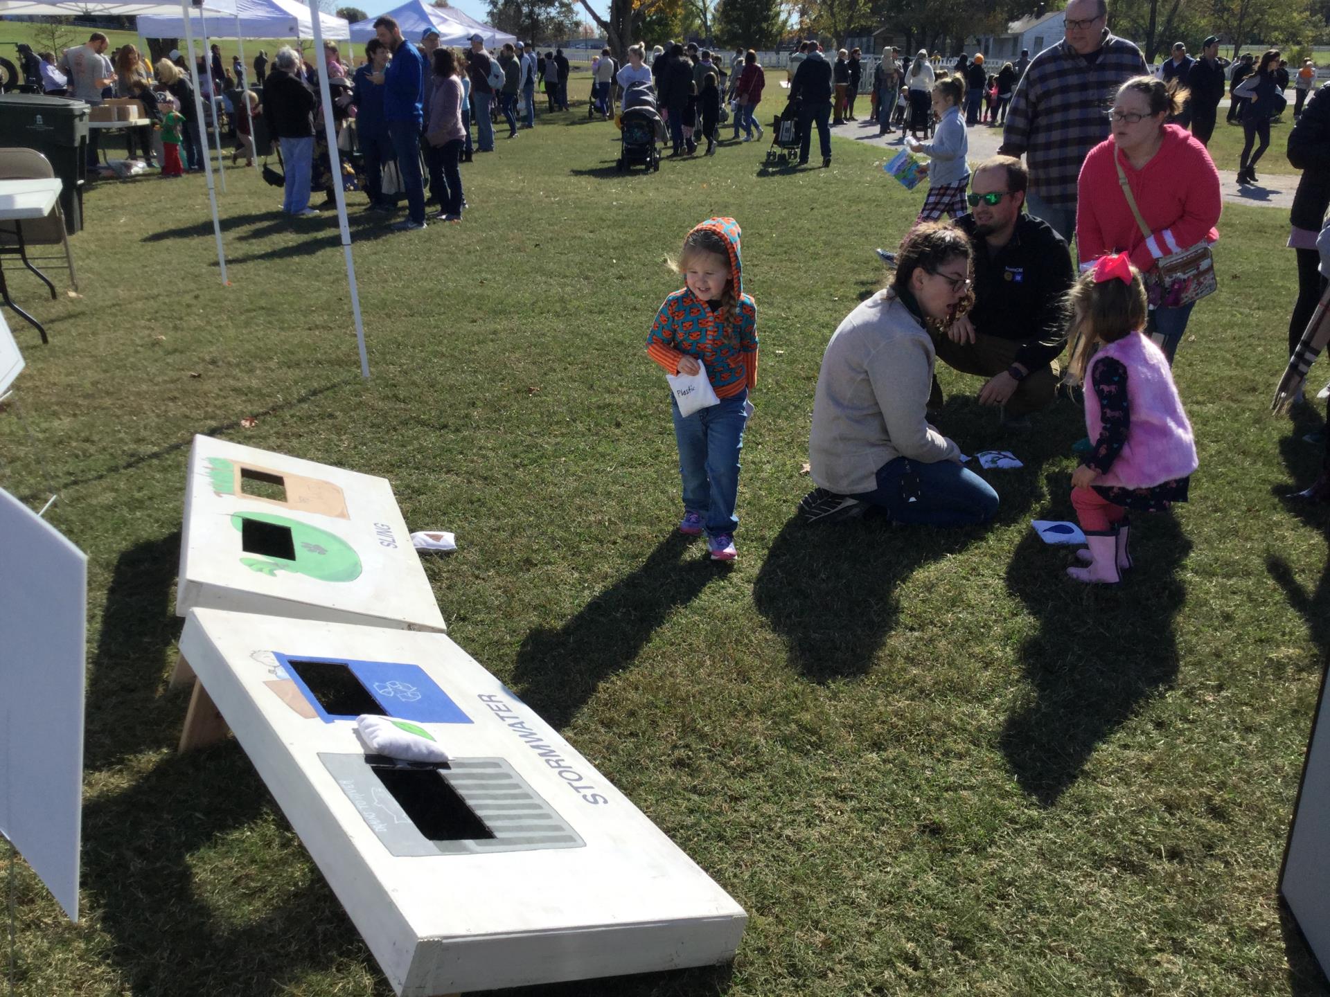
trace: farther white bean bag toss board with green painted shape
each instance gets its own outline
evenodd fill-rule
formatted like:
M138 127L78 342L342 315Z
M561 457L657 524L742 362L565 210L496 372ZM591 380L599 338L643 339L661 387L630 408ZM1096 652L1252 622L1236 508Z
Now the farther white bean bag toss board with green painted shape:
M196 436L176 611L444 630L392 485Z

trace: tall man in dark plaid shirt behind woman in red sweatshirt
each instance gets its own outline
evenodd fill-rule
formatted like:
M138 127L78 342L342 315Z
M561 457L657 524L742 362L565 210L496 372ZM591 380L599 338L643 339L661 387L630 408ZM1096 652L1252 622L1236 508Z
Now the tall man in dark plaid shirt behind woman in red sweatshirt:
M1107 110L1117 88L1149 72L1141 51L1109 33L1105 0L1067 4L1065 41L1044 49L1016 85L1001 156L1025 157L1027 210L1071 242L1076 178L1085 156L1108 138Z

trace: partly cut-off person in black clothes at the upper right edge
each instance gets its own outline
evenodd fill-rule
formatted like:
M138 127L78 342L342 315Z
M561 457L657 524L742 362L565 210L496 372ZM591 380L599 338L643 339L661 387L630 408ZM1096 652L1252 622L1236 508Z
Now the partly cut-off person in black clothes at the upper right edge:
M1289 221L1293 233L1289 243L1298 254L1298 303L1289 320L1289 354L1291 356L1302 332L1325 291L1321 277L1321 254L1315 237L1330 207L1330 84L1311 94L1302 114L1289 133L1289 162L1302 170L1293 195Z

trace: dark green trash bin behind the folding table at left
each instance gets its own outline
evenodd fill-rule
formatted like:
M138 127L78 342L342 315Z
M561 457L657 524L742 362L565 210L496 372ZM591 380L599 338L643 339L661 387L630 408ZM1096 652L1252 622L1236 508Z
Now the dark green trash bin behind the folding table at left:
M64 182L60 207L65 231L82 229L82 186L88 177L88 105L33 93L0 94L0 148L36 149Z

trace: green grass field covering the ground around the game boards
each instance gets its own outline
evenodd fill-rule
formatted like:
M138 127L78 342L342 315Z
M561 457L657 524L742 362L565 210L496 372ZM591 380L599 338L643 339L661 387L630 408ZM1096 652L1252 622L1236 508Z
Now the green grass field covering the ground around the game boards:
M11 278L52 342L16 324L0 484L59 489L90 594L84 920L20 867L19 993L390 993L235 743L173 751L196 432L384 475L412 529L455 530L426 562L454 638L750 912L733 966L540 993L1327 993L1275 903L1330 643L1330 512L1282 501L1322 420L1267 413L1286 213L1225 209L1176 367L1193 500L1142 517L1128 585L1087 590L1028 526L1072 514L1080 411L1005 435L946 370L943 431L1025 464L986 473L995 522L794 518L822 351L922 191L839 140L827 170L767 173L751 144L621 177L614 134L575 109L500 140L458 226L391 235L355 207L368 383L335 221L293 225L239 170L231 287L197 178L89 190L81 296ZM642 352L678 286L662 258L713 213L743 226L762 340L729 570L673 533Z

